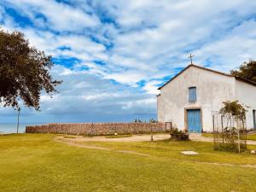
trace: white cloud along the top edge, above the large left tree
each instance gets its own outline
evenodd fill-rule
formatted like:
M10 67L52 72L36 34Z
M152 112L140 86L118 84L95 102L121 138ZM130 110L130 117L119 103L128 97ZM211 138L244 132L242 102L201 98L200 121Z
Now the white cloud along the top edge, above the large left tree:
M6 0L4 2L20 10L22 15L28 16L35 24L57 31L77 32L83 30L83 27L96 27L100 24L96 15L86 14L79 7L73 8L65 3L57 3L51 0ZM44 15L46 20L42 17L35 17L39 14Z

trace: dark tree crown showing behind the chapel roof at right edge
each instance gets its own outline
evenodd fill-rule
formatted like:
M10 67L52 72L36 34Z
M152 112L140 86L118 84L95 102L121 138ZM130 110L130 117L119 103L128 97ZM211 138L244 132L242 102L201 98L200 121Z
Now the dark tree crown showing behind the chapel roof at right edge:
M256 61L250 60L248 62L244 62L238 70L232 70L230 73L256 83Z

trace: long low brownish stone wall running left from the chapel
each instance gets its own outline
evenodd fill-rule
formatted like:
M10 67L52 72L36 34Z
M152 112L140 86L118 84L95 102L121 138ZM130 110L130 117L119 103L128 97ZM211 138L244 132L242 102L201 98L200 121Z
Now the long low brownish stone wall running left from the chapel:
M137 134L166 131L164 123L83 123L47 124L26 126L26 133L61 133L72 135L101 136L118 134Z

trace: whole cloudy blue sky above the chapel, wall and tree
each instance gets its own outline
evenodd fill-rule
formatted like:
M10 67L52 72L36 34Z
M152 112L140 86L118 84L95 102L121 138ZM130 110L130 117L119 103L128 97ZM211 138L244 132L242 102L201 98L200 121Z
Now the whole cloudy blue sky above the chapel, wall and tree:
M189 63L229 72L255 58L249 0L2 0L0 25L53 55L62 79L24 123L120 122L156 116L157 87ZM0 122L15 122L0 108Z

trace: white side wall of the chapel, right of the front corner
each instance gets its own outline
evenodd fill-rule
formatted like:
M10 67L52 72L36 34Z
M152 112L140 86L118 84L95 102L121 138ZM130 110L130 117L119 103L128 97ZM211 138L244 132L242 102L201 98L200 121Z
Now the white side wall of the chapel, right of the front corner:
M256 86L236 80L236 99L248 106L247 129L253 128L253 110L256 110Z

